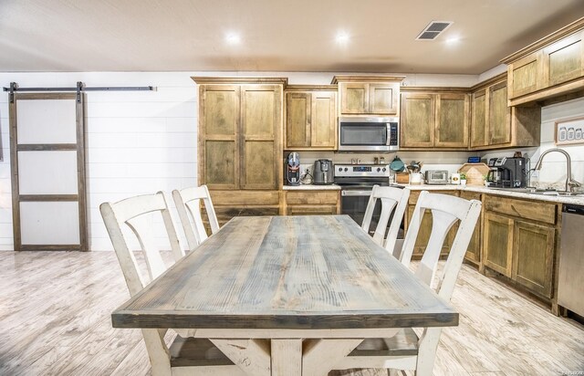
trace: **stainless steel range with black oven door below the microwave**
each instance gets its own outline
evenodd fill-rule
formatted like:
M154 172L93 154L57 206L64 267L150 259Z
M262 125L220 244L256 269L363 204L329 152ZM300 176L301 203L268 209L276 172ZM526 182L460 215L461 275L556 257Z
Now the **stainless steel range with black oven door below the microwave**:
M359 225L369 203L373 185L390 185L388 164L335 164L335 183L340 185L340 210ZM371 218L370 234L379 222L381 203L378 201ZM391 223L391 221L390 221Z

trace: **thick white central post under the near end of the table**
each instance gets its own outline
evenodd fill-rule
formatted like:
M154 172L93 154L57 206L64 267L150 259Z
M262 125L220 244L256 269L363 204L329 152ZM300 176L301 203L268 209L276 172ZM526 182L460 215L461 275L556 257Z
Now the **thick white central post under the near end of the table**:
M272 376L302 375L302 339L272 339Z

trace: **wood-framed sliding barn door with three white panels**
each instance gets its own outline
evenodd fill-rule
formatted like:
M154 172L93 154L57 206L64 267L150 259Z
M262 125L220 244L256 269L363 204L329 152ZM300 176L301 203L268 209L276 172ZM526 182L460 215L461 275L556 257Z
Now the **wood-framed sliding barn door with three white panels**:
M81 93L14 93L10 163L16 251L88 250L84 102Z

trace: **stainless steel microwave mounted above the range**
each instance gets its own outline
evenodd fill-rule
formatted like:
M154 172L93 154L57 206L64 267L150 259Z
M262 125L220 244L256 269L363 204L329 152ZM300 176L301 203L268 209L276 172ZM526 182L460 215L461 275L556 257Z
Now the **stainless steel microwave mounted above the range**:
M397 151L399 118L339 118L339 151Z

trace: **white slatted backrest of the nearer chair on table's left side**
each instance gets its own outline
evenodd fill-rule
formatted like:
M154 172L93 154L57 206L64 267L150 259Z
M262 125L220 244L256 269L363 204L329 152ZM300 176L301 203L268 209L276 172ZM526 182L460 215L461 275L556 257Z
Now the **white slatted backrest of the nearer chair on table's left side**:
M174 260L177 261L184 256L162 192L134 196L117 203L103 203L99 205L99 211L110 234L111 243L120 261L121 270L132 297L150 281L146 281L140 272L140 266L131 249L132 239L129 233L133 233L140 245L150 280L160 276L166 270L161 249L154 242L152 223L156 218L153 214L162 215L162 223Z

